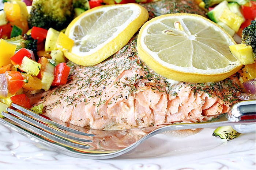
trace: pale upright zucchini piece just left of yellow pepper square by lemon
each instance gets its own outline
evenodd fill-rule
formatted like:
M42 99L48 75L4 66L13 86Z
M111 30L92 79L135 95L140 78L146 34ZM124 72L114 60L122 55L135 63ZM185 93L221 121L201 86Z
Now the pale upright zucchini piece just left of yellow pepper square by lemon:
M60 32L53 29L53 28L49 28L47 35L46 35L46 39L45 39L45 51L52 51L52 50L57 50L57 48L55 47L57 39L59 37Z

